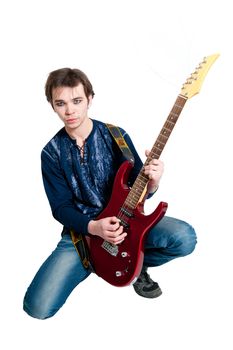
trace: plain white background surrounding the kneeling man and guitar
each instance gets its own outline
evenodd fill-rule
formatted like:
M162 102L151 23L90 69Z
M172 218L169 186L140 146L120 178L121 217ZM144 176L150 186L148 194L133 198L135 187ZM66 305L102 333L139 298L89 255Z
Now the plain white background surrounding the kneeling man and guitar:
M232 16L230 1L7 1L1 5L1 349L232 349ZM195 252L150 270L163 295L91 276L52 319L22 311L56 246L40 152L62 127L44 96L50 71L82 69L90 116L126 129L144 158L186 78L220 53L186 103L148 204L190 222Z

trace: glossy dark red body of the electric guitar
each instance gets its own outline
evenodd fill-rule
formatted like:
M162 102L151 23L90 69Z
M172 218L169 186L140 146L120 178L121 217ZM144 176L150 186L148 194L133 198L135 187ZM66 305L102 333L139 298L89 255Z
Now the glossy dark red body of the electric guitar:
M127 184L132 164L124 162L116 175L112 196L108 206L97 219L117 216L130 191ZM143 205L139 204L124 228L127 237L119 245L112 245L99 236L87 236L90 260L95 273L110 284L118 287L133 283L141 272L144 258L144 240L146 233L165 214L167 203L161 202L150 215L143 214ZM125 221L125 220L124 220Z

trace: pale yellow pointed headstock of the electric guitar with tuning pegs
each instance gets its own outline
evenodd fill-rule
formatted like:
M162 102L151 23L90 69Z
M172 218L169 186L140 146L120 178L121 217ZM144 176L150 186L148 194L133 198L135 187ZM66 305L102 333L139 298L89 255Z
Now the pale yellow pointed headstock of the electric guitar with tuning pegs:
M218 57L219 54L204 57L203 61L184 83L180 95L186 98L191 98L194 95L198 94L206 74Z

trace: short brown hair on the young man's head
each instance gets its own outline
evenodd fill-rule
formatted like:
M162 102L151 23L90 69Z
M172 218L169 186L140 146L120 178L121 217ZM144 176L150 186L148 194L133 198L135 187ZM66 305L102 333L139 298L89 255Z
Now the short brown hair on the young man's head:
M92 85L86 74L79 69L61 68L49 73L45 84L45 95L47 100L52 104L53 89L62 86L75 87L79 84L83 85L87 98L94 97Z

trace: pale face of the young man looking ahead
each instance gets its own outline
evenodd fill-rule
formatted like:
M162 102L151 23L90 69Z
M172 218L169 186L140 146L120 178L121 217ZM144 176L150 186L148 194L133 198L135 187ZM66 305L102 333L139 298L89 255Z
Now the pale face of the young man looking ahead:
M66 129L75 129L87 119L88 107L92 97L87 99L83 85L62 86L53 89L52 104L54 111L65 124Z

